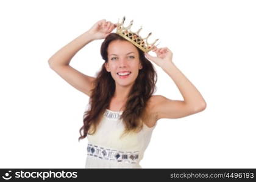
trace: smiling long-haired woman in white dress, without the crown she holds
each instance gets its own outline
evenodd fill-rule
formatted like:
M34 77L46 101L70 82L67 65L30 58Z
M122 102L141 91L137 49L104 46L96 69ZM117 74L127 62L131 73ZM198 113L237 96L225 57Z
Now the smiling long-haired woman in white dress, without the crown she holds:
M171 50L154 46L157 56L151 56L111 33L117 26L102 19L49 59L51 69L90 97L79 137L88 136L86 168L141 168L158 120L182 118L206 107L196 87L173 64ZM96 39L104 39L101 55L105 62L94 78L73 69L69 62ZM151 61L176 83L183 101L152 95L157 75Z

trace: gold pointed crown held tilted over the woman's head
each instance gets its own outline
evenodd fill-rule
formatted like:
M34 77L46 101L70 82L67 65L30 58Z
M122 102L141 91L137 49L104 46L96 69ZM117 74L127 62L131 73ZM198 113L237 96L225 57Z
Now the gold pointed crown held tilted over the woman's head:
M143 50L143 52L148 53L149 51L151 51L154 48L154 46L156 46L154 44L155 42L158 41L158 39L156 39L154 43L149 44L148 38L149 36L151 36L152 33L149 33L149 35L146 38L141 38L141 36L138 34L140 33L140 30L142 29L142 27L137 32L132 32L130 30L130 27L132 27L133 20L130 21L130 24L127 27L124 27L125 20L126 20L125 16L122 22L119 22L119 18L118 18L116 33L122 36L123 38L127 39L127 41L132 42L132 44L136 45L138 48Z

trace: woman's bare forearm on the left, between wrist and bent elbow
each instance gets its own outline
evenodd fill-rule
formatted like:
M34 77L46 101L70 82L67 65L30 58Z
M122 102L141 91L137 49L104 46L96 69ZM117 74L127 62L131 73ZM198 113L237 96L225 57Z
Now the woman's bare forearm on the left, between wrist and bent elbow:
M71 61L73 56L76 55L76 53L80 49L82 49L85 45L93 40L94 38L92 35L90 35L90 33L83 33L82 35L78 36L76 39L62 47L62 49L60 49L54 55L52 55L51 58L49 58L48 60L49 66L55 67L69 65L69 62Z

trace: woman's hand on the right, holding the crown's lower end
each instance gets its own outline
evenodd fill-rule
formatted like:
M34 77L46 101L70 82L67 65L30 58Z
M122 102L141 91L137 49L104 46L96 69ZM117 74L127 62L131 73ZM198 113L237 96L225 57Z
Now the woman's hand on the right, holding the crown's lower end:
M146 58L150 59L151 61L155 62L160 67L165 67L167 64L172 64L172 52L167 47L157 48L154 46L152 49L153 52L157 54L157 57L149 55L149 53L145 53Z

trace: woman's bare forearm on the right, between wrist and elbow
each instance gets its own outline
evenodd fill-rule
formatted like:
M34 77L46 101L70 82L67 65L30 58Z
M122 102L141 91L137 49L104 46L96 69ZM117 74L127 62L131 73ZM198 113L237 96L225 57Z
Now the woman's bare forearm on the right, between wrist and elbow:
M172 78L182 94L185 103L198 110L206 107L205 100L201 93L173 63L168 64L168 66L162 69Z

